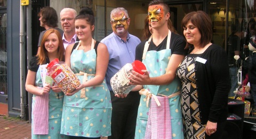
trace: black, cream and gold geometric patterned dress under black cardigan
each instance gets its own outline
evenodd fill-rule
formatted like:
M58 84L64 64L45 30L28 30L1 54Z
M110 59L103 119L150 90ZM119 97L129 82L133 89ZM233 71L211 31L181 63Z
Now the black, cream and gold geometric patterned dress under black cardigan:
M201 124L196 88L195 59L200 54L188 54L177 68L181 80L181 111L185 138L205 138L205 126Z

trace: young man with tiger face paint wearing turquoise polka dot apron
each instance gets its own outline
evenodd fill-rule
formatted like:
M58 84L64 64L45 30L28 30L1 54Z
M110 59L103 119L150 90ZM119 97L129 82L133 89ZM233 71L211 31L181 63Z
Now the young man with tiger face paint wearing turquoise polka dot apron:
M130 84L143 85L135 138L183 138L180 81L175 72L187 54L185 39L168 29L170 9L163 1L151 1L148 19L152 36L136 48L136 60L147 71L132 72ZM137 75L137 76L134 76ZM129 94L130 95L130 94Z

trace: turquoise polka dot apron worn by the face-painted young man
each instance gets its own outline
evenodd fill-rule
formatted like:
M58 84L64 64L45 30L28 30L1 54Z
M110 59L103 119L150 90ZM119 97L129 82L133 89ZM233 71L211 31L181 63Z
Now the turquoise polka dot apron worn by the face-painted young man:
M151 36L152 37L152 36ZM142 63L146 65L147 71L149 72L150 77L156 77L165 74L167 65L169 63L169 59L171 57L171 49L170 49L170 40L171 40L171 31L169 30L168 36L167 36L167 45L166 49L160 50L160 51L147 51L151 37L145 44L145 48L143 50L143 56L142 56ZM175 78L172 83L167 85L144 85L143 86L144 91L150 92L151 95L155 95L155 97L165 96L168 98L169 109L170 109L170 118L171 118L171 136L172 138L183 138L183 126L182 126L182 116L181 116L181 109L180 109L180 81ZM140 99L140 105L138 109L138 116L137 116L137 125L135 130L135 138L146 138L145 132L147 127L147 121L149 116L149 103L151 102L148 99L147 96L149 96L147 93L141 93L141 99ZM153 100L152 100L153 101ZM162 99L159 100L161 105L164 105L165 102L161 103ZM163 100L164 101L164 100ZM155 103L155 99L154 99ZM155 108L155 107L154 107ZM151 109L154 109L153 107ZM157 110L156 110L157 111ZM158 117L160 115L158 114ZM167 116L169 117L169 116ZM150 119L152 120L154 119ZM153 124L151 124L152 126ZM151 127L153 129L154 127ZM158 128L158 127L157 127ZM148 130L148 129L147 129ZM159 131L147 131L147 134L150 133L151 135L154 134L163 134L163 132ZM148 136L148 135L147 135ZM159 136L158 136L159 137ZM151 138L155 138L151 136ZM161 138L161 137L160 137Z

